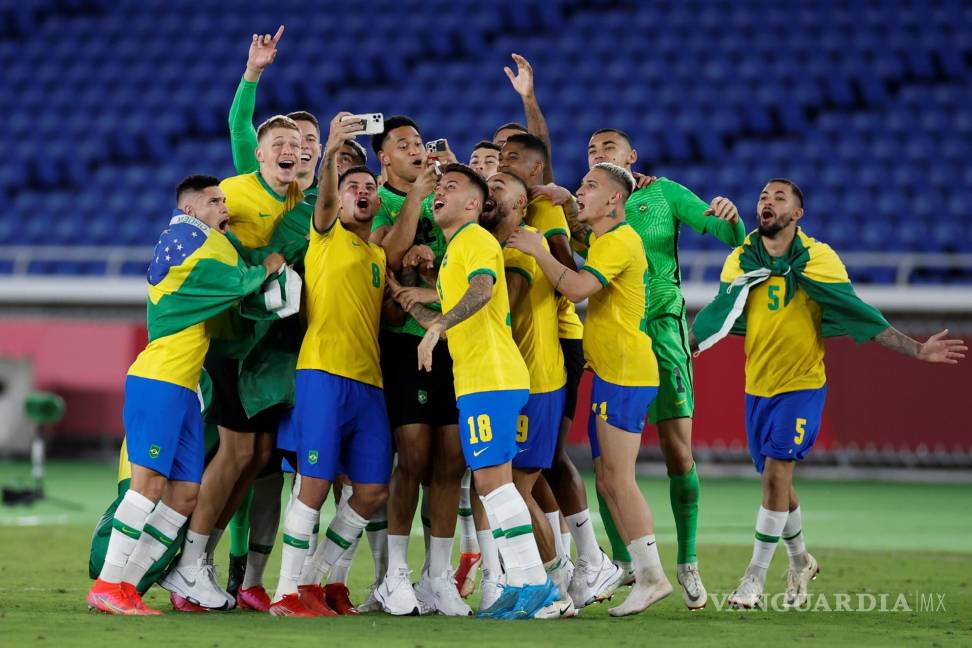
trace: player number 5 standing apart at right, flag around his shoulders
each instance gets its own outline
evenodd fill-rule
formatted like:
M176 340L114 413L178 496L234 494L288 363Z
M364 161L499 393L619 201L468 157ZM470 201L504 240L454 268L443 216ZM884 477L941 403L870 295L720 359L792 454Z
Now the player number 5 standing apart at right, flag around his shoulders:
M759 228L726 259L719 293L692 323L692 348L704 351L732 332L746 337L746 436L763 501L756 540L733 607L760 604L780 538L789 570L784 603L800 607L820 568L806 550L793 471L813 448L827 394L825 337L869 340L925 362L956 364L968 347L942 331L918 342L893 328L854 293L840 258L807 236L803 192L774 178L759 195Z

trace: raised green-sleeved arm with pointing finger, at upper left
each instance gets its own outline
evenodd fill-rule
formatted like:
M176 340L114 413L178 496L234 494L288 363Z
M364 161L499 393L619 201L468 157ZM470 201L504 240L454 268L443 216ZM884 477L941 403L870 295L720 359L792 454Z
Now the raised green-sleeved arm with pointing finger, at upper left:
M283 36L283 25L273 36L253 34L250 51L246 58L243 78L233 96L230 106L229 127L230 147L233 151L233 167L237 173L251 173L260 168L256 159L256 129L253 127L253 113L256 108L256 86L263 70L273 63L277 56L277 42Z

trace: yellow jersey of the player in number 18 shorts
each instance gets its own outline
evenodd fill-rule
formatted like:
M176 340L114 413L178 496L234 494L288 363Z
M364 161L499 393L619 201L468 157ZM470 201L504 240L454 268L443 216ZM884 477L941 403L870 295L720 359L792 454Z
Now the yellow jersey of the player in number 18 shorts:
M493 235L477 223L456 231L439 267L436 290L448 313L479 274L493 278L493 294L481 309L449 329L456 396L486 391L529 389L530 374L513 342L510 298L506 291L503 251Z

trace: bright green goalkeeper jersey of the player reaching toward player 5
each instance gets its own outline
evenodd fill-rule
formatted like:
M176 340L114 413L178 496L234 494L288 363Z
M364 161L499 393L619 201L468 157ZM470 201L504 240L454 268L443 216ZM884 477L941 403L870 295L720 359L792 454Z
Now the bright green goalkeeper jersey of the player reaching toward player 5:
M678 235L682 223L699 234L712 234L733 248L742 245L746 228L742 219L731 225L706 216L709 205L667 178L638 189L624 205L628 223L641 237L648 259L648 319L685 312L682 273L678 267Z

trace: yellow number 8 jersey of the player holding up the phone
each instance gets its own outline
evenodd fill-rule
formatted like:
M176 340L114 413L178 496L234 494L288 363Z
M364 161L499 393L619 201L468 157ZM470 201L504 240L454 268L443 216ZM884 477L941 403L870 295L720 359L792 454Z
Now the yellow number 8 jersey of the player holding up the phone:
M320 369L381 387L378 323L385 293L385 250L344 229L318 232L304 256L307 333L298 369Z

